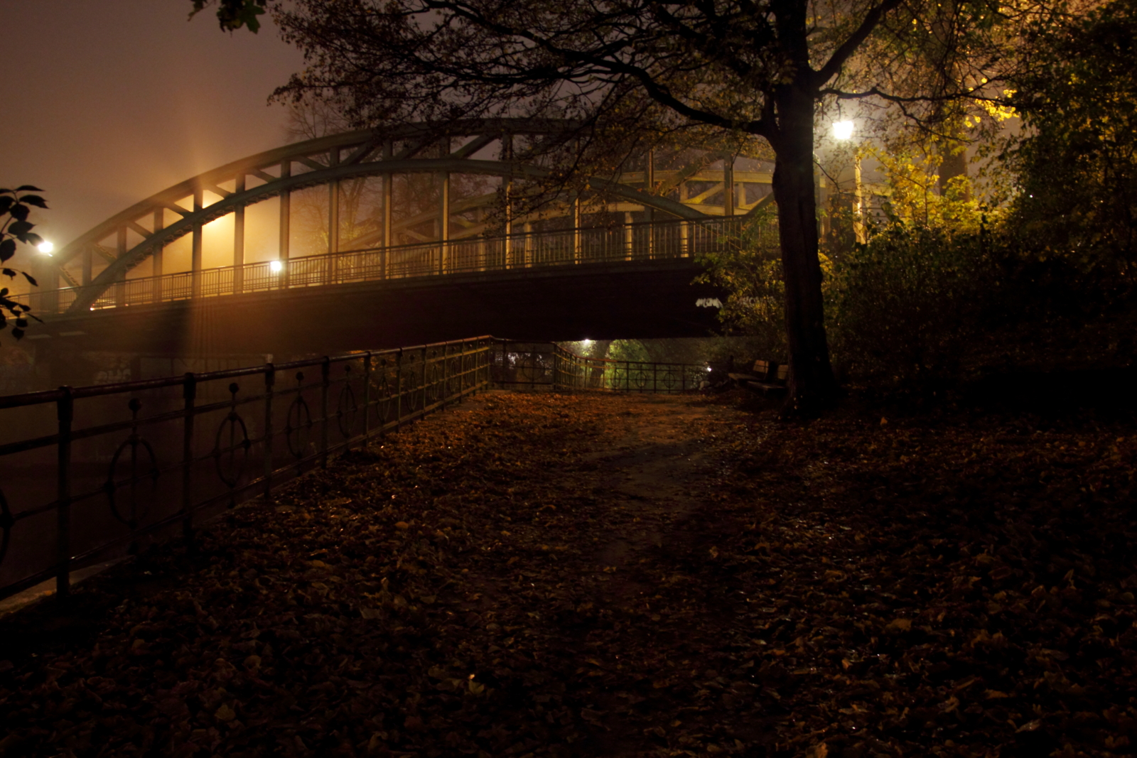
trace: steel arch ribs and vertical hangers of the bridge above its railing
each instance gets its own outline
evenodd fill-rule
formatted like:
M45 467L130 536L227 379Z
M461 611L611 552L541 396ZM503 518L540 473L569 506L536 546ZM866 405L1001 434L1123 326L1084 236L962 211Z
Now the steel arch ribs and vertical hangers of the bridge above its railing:
M73 318L96 308L136 305L122 298L108 298L107 293L116 289L122 290L128 284L128 278L136 280L136 269L147 259L152 261L150 278L161 280L164 275L168 278L164 270L163 250L186 235L192 238L192 244L190 269L182 272L185 275L182 278L189 280L189 291L185 294L191 298L218 294L219 292L207 293L201 289L202 276L210 272L202 268L202 228L206 224L230 215L233 216L234 224L232 277L235 277L236 282L236 289L232 290L232 293L240 293L242 292L240 280L247 266L243 239L244 209L271 198L281 198L279 230L281 249L277 258L287 261L290 257L292 220L290 198L292 193L312 186L326 185L330 190L327 253L337 256L341 253L338 239L340 227L338 188L342 182L363 177L383 177L383 219L376 231L351 240L351 245L356 249L384 248L390 251L390 256L418 255L406 249L400 252L400 247L407 248L407 245L391 243L400 232L414 235L412 227L415 224L422 224L435 216L437 239L423 240L422 243L437 244L439 255L445 256L446 250L455 242L485 236L484 225L472 225L456 217L456 214L471 209L484 210L499 201L498 192L451 201L450 175L500 177L503 186L512 186L514 181L547 178L549 174L546 169L526 163L532 151L526 153L513 150L514 139L522 138L530 143L540 143L541 140L555 140L565 127L564 122L556 120L479 120L462 124L453 128L449 136L440 139L435 132L423 125L409 125L383 134L359 131L319 138L227 164L132 206L63 248L51 260L50 268L53 270L40 272L41 275L48 274L44 277L45 283L51 281L53 273L59 289L56 293L42 291L36 293L35 300L39 302L35 305L40 313ZM625 173L615 178L594 177L589 181L589 186L609 199L611 210L624 211L629 223L624 236L628 240L628 258L631 259L630 251L636 245L633 239L637 238L630 231L633 210L641 211L648 222L658 218L658 216L653 217L653 213L674 220L706 222L716 216L731 216L736 210L745 213L765 205L772 197L766 193L761 199L748 202L747 183L767 184L770 176L756 172L736 173L732 166L727 168L725 163L723 165L724 170L719 174L704 170L703 167L654 172L654 167L649 165L646 170ZM417 214L398 219L393 217L392 177L404 174L432 174L439 177L439 207L435 214ZM716 180L721 181L716 183ZM689 189L691 186L694 192ZM650 191L661 188L678 198ZM739 188L741 198L738 197ZM716 189L722 197L719 206L711 205ZM578 227L579 248L581 244L579 199L564 203L559 210L545 211L543 216L532 215L512 219L512 226L507 222L503 236L506 239L518 236L511 232L524 227L525 241L521 247L525 248L530 244L528 241L530 222L558 214L562 216L574 214L572 225ZM167 223L169 218L173 219L172 223ZM462 223L453 223L454 220ZM686 234L686 231L683 233ZM538 239L539 235L540 233L534 234L533 239ZM638 236L644 235L640 233ZM648 236L650 239L647 252L652 256L650 248L656 235L652 232ZM507 242L506 247L509 244ZM100 266L101 270L97 272L97 267ZM387 269L384 259L384 273ZM480 269L484 270L484 266ZM131 274L132 270L134 274ZM443 266L437 270L425 269L421 273L447 273L447 269ZM332 283L332 281L325 280L318 283ZM163 297L160 282L150 290L153 292L152 302L169 299Z

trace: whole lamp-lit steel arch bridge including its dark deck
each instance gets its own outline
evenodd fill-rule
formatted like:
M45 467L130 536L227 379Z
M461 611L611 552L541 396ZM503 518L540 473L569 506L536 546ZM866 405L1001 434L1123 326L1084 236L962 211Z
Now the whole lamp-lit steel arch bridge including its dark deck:
M262 352L488 332L705 334L713 311L696 301L715 293L691 286L695 258L770 202L769 169L648 156L637 170L590 178L583 197L515 214L549 177L537 156L563 132L497 119L440 138L409 125L207 172L51 258L33 295L47 327L30 338Z

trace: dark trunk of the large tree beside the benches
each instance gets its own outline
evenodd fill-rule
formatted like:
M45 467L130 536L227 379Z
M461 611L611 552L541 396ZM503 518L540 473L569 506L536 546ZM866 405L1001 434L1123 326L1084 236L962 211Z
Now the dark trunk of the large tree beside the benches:
M821 264L818 260L818 203L813 189L813 97L789 85L779 98L779 138L773 191L782 269L786 276L786 335L789 342L788 410L812 414L829 406L837 382L829 364Z

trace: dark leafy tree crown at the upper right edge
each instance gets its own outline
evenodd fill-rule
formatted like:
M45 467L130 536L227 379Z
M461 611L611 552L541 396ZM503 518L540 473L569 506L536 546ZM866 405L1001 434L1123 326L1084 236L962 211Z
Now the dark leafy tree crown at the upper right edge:
M1137 284L1137 2L1040 31L1015 82L1026 133L1010 164L1024 241L1127 292Z

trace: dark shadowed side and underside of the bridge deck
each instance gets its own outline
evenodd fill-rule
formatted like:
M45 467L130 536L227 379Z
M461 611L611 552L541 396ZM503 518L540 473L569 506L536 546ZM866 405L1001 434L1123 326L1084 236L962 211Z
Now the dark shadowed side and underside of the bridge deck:
M472 272L188 299L57 317L38 348L150 355L333 353L493 334L518 340L706 336L691 259Z

